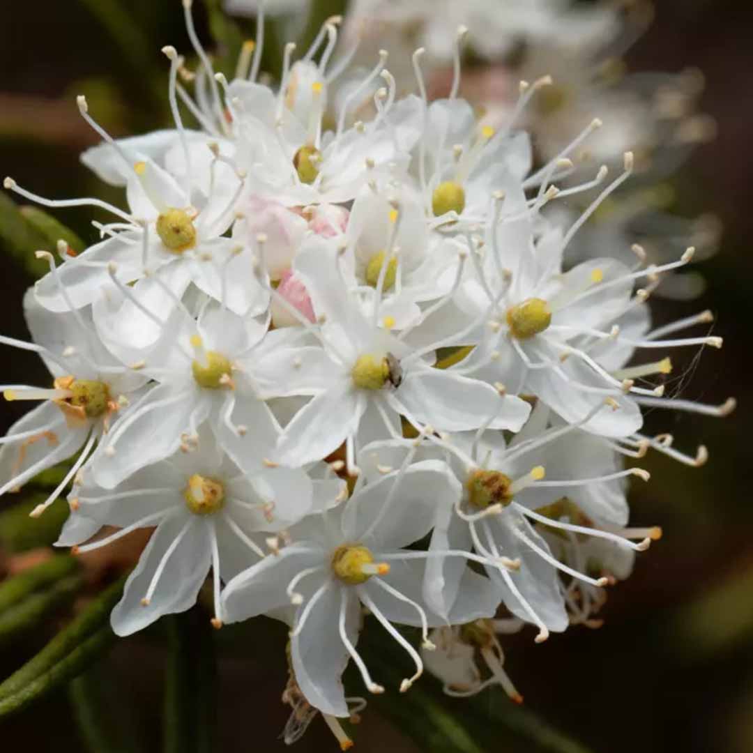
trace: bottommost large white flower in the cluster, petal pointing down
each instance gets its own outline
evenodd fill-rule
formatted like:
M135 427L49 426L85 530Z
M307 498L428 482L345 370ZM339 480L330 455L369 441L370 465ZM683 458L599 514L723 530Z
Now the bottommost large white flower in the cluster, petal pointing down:
M232 622L300 604L291 632L297 683L309 703L325 714L347 716L340 675L355 661L367 689L384 689L371 679L355 649L361 630L360 605L367 607L416 663L407 691L422 672L416 650L392 622L422 628L443 620L422 598L425 552L406 550L430 529L437 508L450 505L458 484L443 463L419 462L355 492L341 508L313 515L290 530L293 543L233 578L224 590L225 620ZM467 621L493 614L488 581L466 570L463 598L453 617Z

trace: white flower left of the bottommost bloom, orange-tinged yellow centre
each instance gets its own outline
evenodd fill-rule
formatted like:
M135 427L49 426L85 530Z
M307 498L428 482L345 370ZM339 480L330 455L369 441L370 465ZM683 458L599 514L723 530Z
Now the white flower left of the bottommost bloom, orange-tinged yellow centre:
M220 582L264 556L261 531L279 531L311 508L330 505L343 482L312 481L292 468L242 471L200 429L197 450L137 471L117 489L90 483L75 487L72 514L57 545L80 544L99 526L120 530L91 544L84 552L109 544L127 533L157 526L128 578L123 598L111 617L113 630L127 636L163 614L194 604L210 567L214 575L215 627L221 626ZM82 520L83 519L83 520Z

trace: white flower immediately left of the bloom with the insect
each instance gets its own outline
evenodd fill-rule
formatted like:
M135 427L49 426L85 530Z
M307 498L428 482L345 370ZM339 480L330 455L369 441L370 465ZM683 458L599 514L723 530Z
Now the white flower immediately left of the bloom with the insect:
M299 349L285 348L284 332L269 341L263 337L264 325L213 301L201 306L196 322L178 310L158 346L136 364L157 385L107 437L93 462L98 483L113 488L178 447L190 450L204 422L244 471L271 459L279 426L258 389L293 372Z

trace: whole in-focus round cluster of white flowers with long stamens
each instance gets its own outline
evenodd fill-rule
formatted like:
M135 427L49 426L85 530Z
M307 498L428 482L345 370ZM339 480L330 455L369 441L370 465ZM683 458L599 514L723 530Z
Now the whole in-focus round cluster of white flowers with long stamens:
M456 96L459 66L450 97L429 102L416 50L419 96L400 97L381 52L328 127L347 67L330 63L336 20L296 62L285 47L272 88L261 38L227 81L184 9L198 66L163 49L172 130L115 141L78 99L103 139L84 163L125 188L127 209L5 179L114 220L80 255L38 252L50 271L24 301L34 343L0 338L53 380L4 388L41 404L2 439L0 492L78 453L32 513L72 483L60 546L154 528L112 613L118 635L190 608L210 572L216 627L288 623L288 740L318 709L349 747L337 718L362 706L344 693L349 660L384 690L357 649L371 623L415 663L400 691L426 661L448 692L498 683L520 700L497 634L596 624L604 587L660 536L627 527L627 480L648 473L626 459L706 459L643 433L643 409L733 407L663 396L669 349L721 346L672 337L708 312L651 328L650 291L693 249L566 265L633 154L611 183L602 166L562 184L594 120L535 168L518 126L546 81L521 84L494 128ZM577 218L544 212L600 184ZM419 630L420 652L396 624Z

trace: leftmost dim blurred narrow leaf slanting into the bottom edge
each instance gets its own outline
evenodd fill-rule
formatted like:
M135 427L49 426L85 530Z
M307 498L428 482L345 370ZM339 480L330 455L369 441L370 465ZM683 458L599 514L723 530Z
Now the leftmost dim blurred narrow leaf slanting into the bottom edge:
M138 753L144 749L133 732L133 715L123 709L122 694L116 697L116 693L96 667L68 686L78 732L90 753Z

